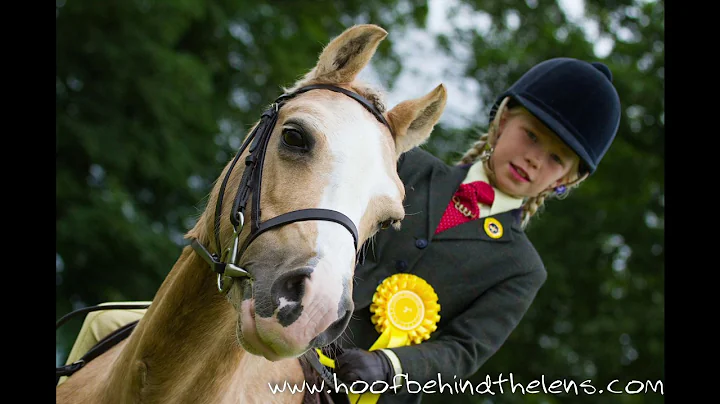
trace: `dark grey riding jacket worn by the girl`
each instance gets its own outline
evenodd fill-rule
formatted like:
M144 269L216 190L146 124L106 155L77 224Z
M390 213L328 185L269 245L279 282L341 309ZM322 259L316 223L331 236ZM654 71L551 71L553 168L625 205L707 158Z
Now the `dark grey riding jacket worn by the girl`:
M379 336L370 321L376 287L395 273L418 275L438 295L438 329L421 344L393 351L409 380L420 386L436 381L431 386L436 395L440 394L438 374L450 385L465 380L500 348L547 274L520 227L519 210L494 216L504 230L499 239L485 233L484 218L434 235L469 166L448 166L415 148L401 157L398 168L406 188L402 230L381 230L364 264L356 268L355 312L338 342L370 348ZM449 394L447 386L444 390ZM383 394L378 403L419 402L420 398L406 392Z

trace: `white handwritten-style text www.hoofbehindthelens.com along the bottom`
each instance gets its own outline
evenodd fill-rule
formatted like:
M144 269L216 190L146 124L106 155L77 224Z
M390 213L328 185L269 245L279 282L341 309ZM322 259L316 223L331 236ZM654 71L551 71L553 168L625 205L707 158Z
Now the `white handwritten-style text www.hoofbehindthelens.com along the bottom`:
M513 374L510 373L508 377L503 377L500 374L497 380L492 380L490 376L486 376L485 380L473 384L469 380L463 380L458 377L454 377L452 381L443 380L442 375L438 373L437 380L428 380L424 385L408 379L407 374L395 375L393 378L393 384L390 385L383 381L376 381L372 384L357 381L351 385L337 380L337 376L334 382L337 386L335 393L396 393L400 391L402 386L407 386L407 391L411 394L424 393L424 394L465 394L465 395L496 395L496 394L574 394L574 395L593 395L593 394L660 394L664 395L663 383L660 380L657 381L641 381L641 380L630 380L620 381L614 379L604 386L596 386L591 380L583 380L576 382L574 380L546 380L545 376L542 376L540 380L533 380L529 383L521 384L514 380ZM289 392L291 394L305 393L306 390L310 394L320 393L325 391L325 383L321 384L308 384L303 383L301 385L291 384L287 381L283 383L268 383L268 387L273 394ZM332 390L326 391L328 394L333 393Z

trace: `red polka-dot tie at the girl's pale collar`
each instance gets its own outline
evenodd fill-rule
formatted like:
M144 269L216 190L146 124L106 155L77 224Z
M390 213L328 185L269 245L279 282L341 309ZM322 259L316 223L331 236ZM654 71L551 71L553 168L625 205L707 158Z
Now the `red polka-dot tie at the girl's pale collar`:
M494 200L495 190L487 182L475 181L461 184L448 203L435 234L477 219L480 216L478 203L492 205Z

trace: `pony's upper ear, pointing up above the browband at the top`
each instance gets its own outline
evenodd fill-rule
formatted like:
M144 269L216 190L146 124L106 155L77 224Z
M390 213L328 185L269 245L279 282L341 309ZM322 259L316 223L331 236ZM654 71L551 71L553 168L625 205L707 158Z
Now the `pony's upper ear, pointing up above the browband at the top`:
M346 29L323 49L317 65L305 75L302 82L352 82L386 36L387 31L373 24L360 24Z

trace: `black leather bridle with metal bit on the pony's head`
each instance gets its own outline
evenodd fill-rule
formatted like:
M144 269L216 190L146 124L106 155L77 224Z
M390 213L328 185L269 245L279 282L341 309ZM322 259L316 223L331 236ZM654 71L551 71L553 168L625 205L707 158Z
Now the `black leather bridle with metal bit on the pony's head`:
M233 226L232 245L225 249L221 257L218 257L217 254L210 253L202 244L197 241L197 239L192 240L192 247L195 252L197 252L210 265L212 270L217 273L217 286L218 290L220 290L220 292L222 293L226 293L230 289L234 278L252 278L248 271L238 266L238 263L240 262L240 257L248 248L250 243L255 240L260 234L279 226L284 226L286 224L306 220L325 220L341 224L352 234L355 244L355 252L357 254L357 228L355 227L355 224L352 222L352 220L350 220L350 218L338 211L314 208L301 209L281 214L262 223L260 222L260 189L262 185L263 163L265 161L265 153L267 152L268 141L270 139L270 135L273 132L273 129L275 128L280 108L282 108L283 105L285 105L289 100L295 98L297 95L314 89L330 90L347 95L348 97L359 102L363 107L365 107L365 109L370 111L375 116L375 118L377 118L378 121L380 121L390 130L390 133L393 133L393 130L388 124L388 122L385 120L385 117L383 117L380 111L378 111L377 108L372 105L372 103L370 103L361 95L356 94L352 91L348 91L341 87L333 86L330 84L314 84L301 87L293 93L283 94L278 97L275 102L270 105L270 107L265 110L265 112L263 112L260 118L260 122L257 124L255 129L253 129L247 139L245 139L245 141L243 142L240 150L237 152L235 158L230 164L230 167L228 168L227 173L225 174L225 178L223 179L222 185L220 187L220 194L218 195L217 205L215 206L214 220L215 243L216 251L218 252L222 251L222 246L220 245L220 218L222 213L222 201L225 194L225 187L227 186L230 174L235 167L235 163L237 163L240 155L242 155L245 149L248 147L248 144L252 142L252 144L250 144L250 149L248 150L249 154L245 158L245 170L243 171L242 179L240 180L240 186L238 187L237 194L235 195L235 200L233 202L232 211L230 214L230 222ZM252 194L252 218L250 222L250 235L243 241L241 245L240 232L242 231L245 224L245 209L248 199L250 198L250 194Z

